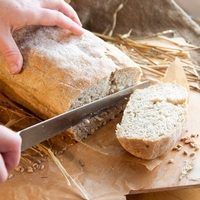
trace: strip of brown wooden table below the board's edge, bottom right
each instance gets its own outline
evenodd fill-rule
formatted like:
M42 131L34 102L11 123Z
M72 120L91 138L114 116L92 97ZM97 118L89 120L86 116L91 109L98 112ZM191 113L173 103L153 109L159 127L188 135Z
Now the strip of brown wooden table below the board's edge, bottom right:
M200 188L128 195L127 200L200 200Z

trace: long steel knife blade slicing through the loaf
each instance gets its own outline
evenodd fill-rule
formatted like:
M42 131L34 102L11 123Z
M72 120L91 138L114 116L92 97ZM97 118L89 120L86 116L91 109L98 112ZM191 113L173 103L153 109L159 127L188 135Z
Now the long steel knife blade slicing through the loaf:
M150 84L149 81L144 81L19 131L18 133L22 138L21 150L24 151L58 135L64 130L78 124L84 118L94 116L95 113L115 105L117 102L133 93L134 90L143 89Z

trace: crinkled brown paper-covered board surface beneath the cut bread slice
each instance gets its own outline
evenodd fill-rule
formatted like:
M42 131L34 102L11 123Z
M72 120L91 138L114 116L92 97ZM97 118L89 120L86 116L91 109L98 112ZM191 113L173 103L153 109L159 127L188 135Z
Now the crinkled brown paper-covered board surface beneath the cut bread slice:
M200 95L191 93L186 134L200 132ZM118 119L119 120L119 119ZM153 171L147 170L138 160L122 149L115 138L117 120L114 120L88 138L87 144L70 147L59 156L65 169L85 188L90 199L124 199L124 195L149 192L152 189L168 190L180 187L200 186L200 152L191 158L180 152L170 152ZM200 137L198 141L200 144ZM100 153L101 152L101 153ZM102 153L103 152L103 153ZM174 163L168 164L173 158ZM179 181L185 160L193 160L194 168L188 177ZM45 169L34 173L15 173L14 177L0 187L0 197L13 199L81 199L74 185L69 186L49 160ZM101 197L101 198L100 198ZM145 199L145 197L144 197Z

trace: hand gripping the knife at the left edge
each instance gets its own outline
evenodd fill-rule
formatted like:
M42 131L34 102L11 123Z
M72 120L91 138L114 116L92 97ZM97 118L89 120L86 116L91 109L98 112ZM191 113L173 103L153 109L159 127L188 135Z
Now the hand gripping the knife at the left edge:
M6 181L9 171L19 164L20 155L20 135L0 125L0 182Z

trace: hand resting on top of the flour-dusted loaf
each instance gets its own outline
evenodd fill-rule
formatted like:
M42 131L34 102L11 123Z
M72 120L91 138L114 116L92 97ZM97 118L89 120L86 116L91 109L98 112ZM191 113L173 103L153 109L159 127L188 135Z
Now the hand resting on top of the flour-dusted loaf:
M0 53L12 74L20 72L23 64L12 32L29 25L58 26L75 35L83 33L76 12L64 0L0 0Z

